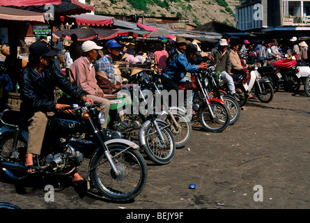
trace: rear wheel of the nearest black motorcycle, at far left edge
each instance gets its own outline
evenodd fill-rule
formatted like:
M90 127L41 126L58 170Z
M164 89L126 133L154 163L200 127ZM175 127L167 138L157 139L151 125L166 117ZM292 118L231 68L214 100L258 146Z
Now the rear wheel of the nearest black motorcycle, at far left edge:
M10 154L13 151L13 132L3 133L0 137L0 160L6 162L14 162L15 164L22 164L24 165L25 158L26 158L26 140L22 137L19 137L17 140L17 151L15 151L15 155L17 157L12 158ZM0 167L1 175L5 176L6 178L12 180L23 180L29 174L26 171L17 171L17 170L10 170L4 167Z

